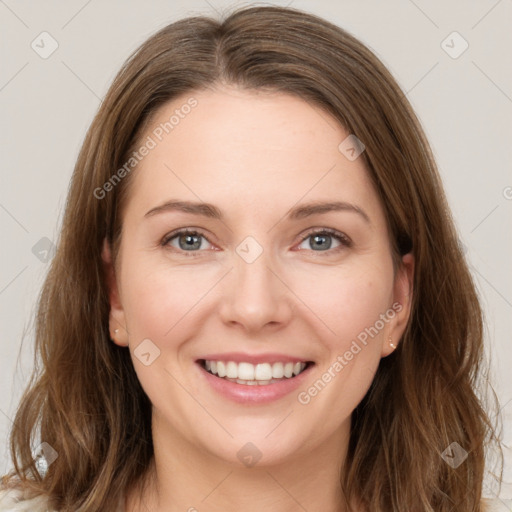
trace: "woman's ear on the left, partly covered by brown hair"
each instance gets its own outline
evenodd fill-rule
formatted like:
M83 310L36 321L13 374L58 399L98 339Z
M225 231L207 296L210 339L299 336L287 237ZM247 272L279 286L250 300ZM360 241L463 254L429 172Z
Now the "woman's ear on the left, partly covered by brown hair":
M107 281L110 302L110 313L108 319L110 339L120 347L127 347L128 331L126 330L125 314L123 305L121 304L121 298L119 296L116 272L112 262L112 251L106 238L103 240L101 259L103 260L103 268Z

